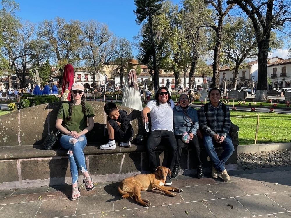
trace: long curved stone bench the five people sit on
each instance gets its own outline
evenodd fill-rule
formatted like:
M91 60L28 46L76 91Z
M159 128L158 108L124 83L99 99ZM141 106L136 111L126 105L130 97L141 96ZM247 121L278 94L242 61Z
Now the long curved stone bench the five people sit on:
M148 160L145 145L136 145L131 148L118 146L113 150L101 150L106 132L107 116L104 113L104 102L87 101L92 104L95 112L94 128L87 133L88 144L84 149L86 165L93 180L117 181L139 172L148 172ZM56 114L61 102L43 104L24 108L0 117L0 190L43 185L61 185L71 183L67 151L42 150L42 142L50 131L55 131ZM134 138L146 133L141 123L140 111L120 106L127 111L134 129ZM235 145L235 152L227 163L237 161L238 127L233 125L230 136ZM205 148L200 142L203 167L209 167ZM222 148L218 147L217 152ZM186 147L181 155L181 168L184 174L196 169L195 155ZM165 164L166 147L160 145L156 149L159 164ZM181 172L180 172L181 173ZM80 180L81 181L81 180Z

